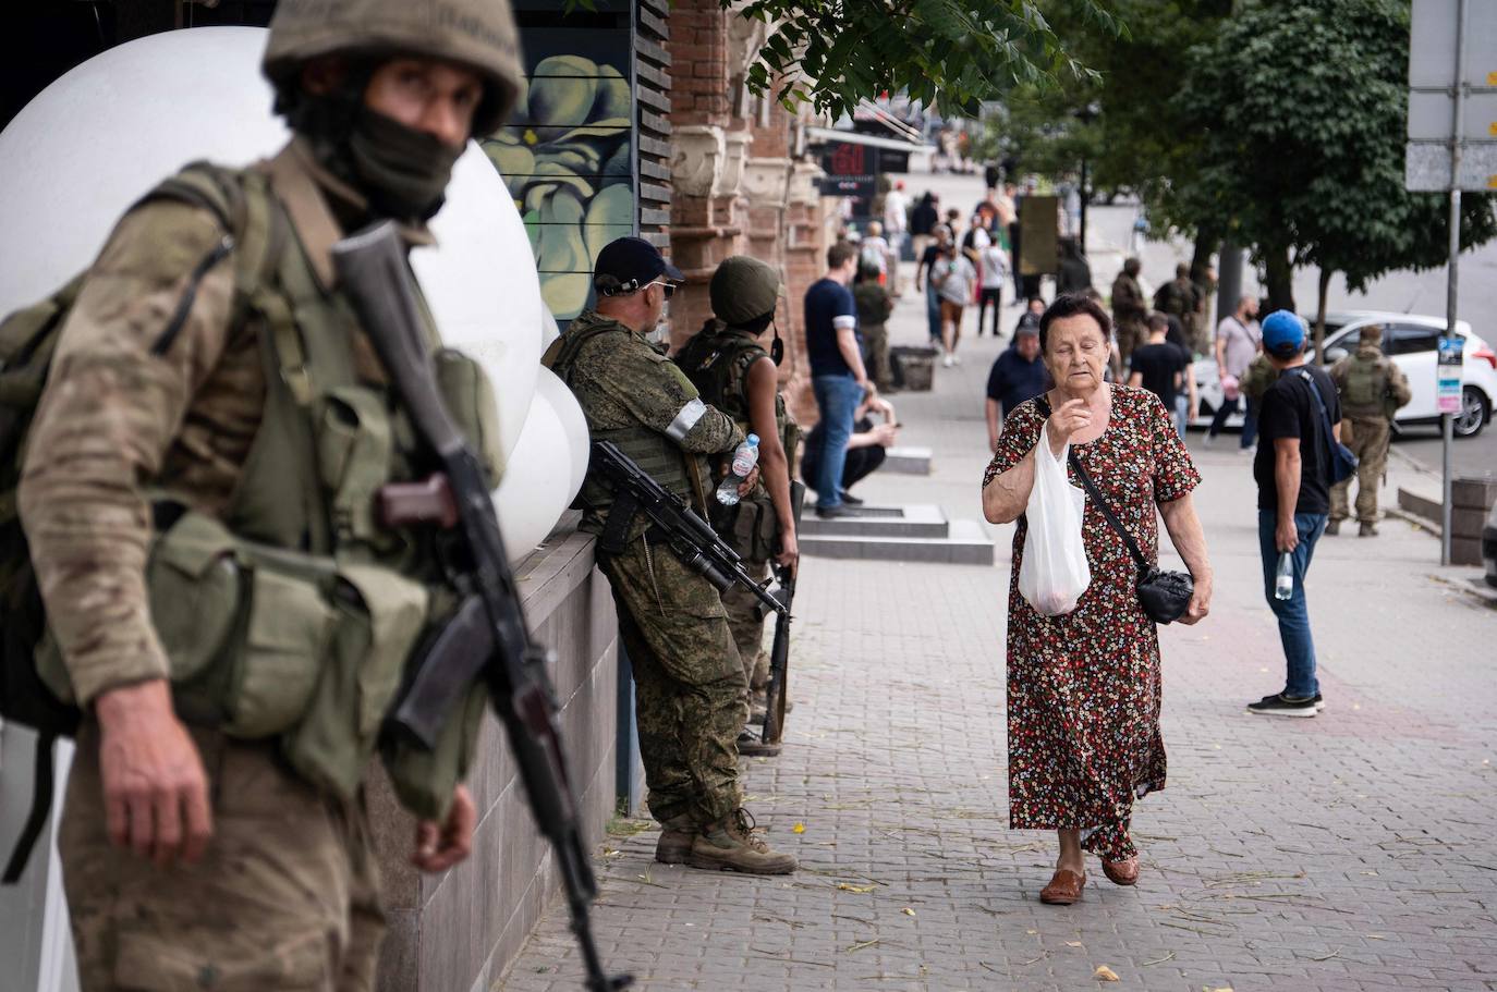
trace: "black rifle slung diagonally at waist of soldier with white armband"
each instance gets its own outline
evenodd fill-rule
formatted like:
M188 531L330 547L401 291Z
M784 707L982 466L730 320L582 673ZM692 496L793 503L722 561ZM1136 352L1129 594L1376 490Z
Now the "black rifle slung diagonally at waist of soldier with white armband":
M617 444L593 441L591 470L614 491L614 506L608 512L611 527L603 531L599 542L605 552L621 551L609 546L612 539L618 537L621 543L629 521L635 513L644 513L660 530L681 563L711 582L719 593L741 585L759 598L763 609L789 616L790 606L754 582L744 569L743 558L717 536L711 524L698 516L680 497L666 492L644 468L618 450Z

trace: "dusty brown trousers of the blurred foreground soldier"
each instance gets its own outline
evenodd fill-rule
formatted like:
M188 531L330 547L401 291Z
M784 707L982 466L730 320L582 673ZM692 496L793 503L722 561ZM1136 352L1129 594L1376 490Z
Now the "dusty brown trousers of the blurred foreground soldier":
M111 847L87 723L57 835L84 992L365 992L385 934L362 800L329 799L274 745L193 730L213 802L202 860Z

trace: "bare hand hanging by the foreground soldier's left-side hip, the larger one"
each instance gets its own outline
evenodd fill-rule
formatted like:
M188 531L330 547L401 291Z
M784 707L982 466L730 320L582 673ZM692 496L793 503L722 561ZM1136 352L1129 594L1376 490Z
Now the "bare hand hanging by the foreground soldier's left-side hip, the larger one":
M171 687L153 679L102 694L99 774L109 841L166 868L195 862L213 836L208 777Z

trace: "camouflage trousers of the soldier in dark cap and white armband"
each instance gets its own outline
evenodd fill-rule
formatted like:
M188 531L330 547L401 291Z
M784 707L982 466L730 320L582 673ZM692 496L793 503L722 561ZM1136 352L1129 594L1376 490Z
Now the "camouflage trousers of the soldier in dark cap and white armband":
M743 664L717 590L666 545L636 537L600 555L635 670L635 720L650 814L699 823L743 805L738 732L748 721Z

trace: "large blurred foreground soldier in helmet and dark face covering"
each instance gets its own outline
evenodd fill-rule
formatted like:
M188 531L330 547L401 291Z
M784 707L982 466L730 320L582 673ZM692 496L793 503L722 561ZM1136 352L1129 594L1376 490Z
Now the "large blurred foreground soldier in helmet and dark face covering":
M310 437L334 456L338 431L383 432L383 458L343 453L371 485L410 477L400 468L409 453L389 441L398 404L334 283L329 248L379 218L403 223L412 244L428 241L452 163L503 121L521 60L504 0L283 0L263 70L290 145L251 169L198 169L196 186L184 172L124 215L61 328L28 438L19 507L58 658L54 685L85 712L58 832L85 991L374 988L385 917L358 783L439 595L437 566L419 554L392 564L400 539L373 522L373 492L296 446ZM278 238L266 233L277 223ZM346 399L337 425L317 413L335 405L334 388ZM344 498L349 515L337 513ZM199 573L180 539L174 567L190 572L177 590L192 598L157 603L157 552L187 522L223 543L193 552ZM254 603L243 607L250 631L229 634L247 637L232 664L286 663L262 691L316 685L310 702L289 700L302 723L269 736L247 730L243 712L240 730L183 715L177 681L186 655L175 640L208 625L196 607L219 567L207 566L229 567L244 542L340 576L347 552L362 563L349 575L371 584L347 587L340 613L305 578L265 563L240 573ZM341 618L355 603L409 634L394 654L383 627L346 654L341 633L317 633L353 631ZM226 652L198 648L210 666ZM361 681L376 675L359 667L376 655L388 663L383 682ZM322 676L346 670L346 657L362 702ZM226 712L244 690L220 699ZM316 766L302 750L314 730L362 733L349 741L341 787L302 774ZM412 860L442 871L466 857L475 806L452 783L427 805Z

